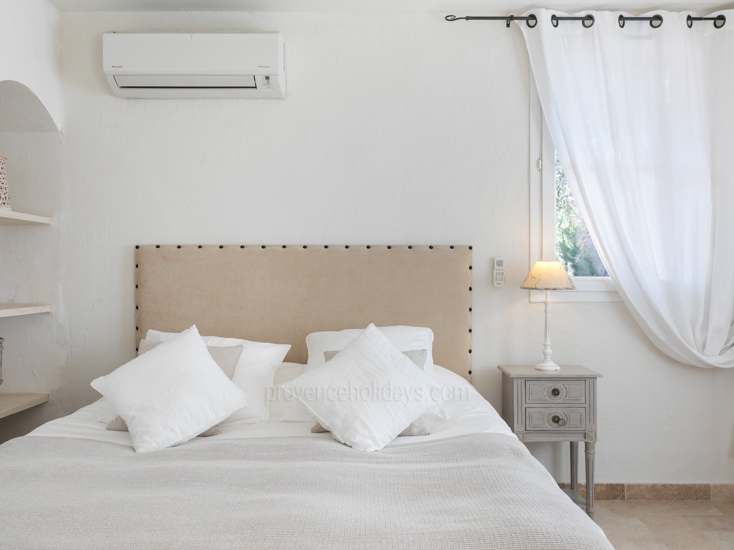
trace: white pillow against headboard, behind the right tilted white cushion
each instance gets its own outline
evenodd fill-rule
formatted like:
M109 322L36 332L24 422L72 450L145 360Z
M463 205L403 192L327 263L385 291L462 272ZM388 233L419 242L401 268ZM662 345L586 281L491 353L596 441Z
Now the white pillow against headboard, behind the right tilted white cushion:
M363 329L312 332L306 337L308 347L308 369L324 364L324 351L341 351L352 342ZM433 331L421 326L380 326L379 331L399 351L426 350L423 370L430 374L433 369Z

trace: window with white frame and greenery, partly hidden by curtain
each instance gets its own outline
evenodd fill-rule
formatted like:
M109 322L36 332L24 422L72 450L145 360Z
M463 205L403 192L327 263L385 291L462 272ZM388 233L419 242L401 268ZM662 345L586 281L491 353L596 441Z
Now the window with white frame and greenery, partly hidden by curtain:
M540 100L531 82L530 262L561 260L576 290L558 290L553 301L620 301L599 258L560 166ZM530 301L542 293L530 290Z

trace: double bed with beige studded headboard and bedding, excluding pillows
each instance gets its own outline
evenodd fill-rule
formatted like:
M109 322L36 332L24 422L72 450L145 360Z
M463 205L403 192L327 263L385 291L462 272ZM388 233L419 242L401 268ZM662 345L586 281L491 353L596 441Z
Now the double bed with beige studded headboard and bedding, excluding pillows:
M135 265L139 335L290 342L292 376L310 331L429 326L463 397L377 452L272 414L144 455L101 399L0 446L0 549L611 549L470 385L470 247L141 246Z

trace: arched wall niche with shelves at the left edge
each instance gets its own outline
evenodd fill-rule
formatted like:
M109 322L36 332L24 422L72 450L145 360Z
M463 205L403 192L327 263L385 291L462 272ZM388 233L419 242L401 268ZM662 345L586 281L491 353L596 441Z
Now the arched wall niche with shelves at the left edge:
M0 154L7 157L10 205L53 220L50 226L0 224L0 303L51 306L51 313L0 318L0 392L48 393L52 403L68 348L58 283L62 150L62 134L43 101L21 82L0 81ZM53 417L43 405L3 419L0 443Z

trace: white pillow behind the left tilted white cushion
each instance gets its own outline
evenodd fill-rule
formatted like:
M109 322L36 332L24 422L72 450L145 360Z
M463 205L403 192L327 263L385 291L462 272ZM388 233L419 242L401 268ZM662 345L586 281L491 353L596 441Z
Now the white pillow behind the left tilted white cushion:
M175 337L175 332L161 332L149 330L146 340L165 341ZM223 424L247 420L250 422L267 422L268 389L273 384L273 376L277 367L285 359L290 344L269 344L266 342L251 342L239 338L222 338L219 336L203 336L204 344L208 346L229 347L242 346L237 367L234 370L232 381L252 399L249 406L236 411Z

